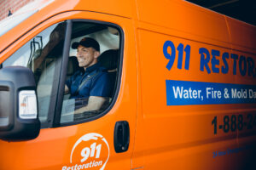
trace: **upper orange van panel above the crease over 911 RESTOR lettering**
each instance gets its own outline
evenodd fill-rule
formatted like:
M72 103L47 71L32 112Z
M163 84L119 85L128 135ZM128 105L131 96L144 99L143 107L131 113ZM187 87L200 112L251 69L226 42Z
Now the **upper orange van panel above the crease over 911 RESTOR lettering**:
M212 43L218 45L230 41L224 16L195 4L180 0L137 0L137 8L141 22L211 38Z

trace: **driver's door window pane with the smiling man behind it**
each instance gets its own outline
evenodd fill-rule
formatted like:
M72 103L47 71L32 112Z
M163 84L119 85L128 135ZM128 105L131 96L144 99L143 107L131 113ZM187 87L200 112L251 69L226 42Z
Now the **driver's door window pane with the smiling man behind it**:
M73 22L61 123L89 121L106 112L116 91L119 44L114 26Z

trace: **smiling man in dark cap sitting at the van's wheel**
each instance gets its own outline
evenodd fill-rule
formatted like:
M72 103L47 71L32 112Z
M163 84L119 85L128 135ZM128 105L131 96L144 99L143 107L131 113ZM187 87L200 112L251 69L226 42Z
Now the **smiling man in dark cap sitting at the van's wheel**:
M67 80L65 92L71 94L70 99L76 100L75 114L99 111L108 102L111 89L108 71L97 63L100 45L95 39L84 37L80 42L73 42L72 48L77 49L79 67L84 71L75 72Z

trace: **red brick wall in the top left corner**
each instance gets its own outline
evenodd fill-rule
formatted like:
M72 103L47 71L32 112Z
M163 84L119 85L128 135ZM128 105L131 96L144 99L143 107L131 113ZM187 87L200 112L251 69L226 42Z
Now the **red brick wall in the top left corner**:
M0 20L8 16L9 10L14 14L19 8L32 1L34 0L0 0Z

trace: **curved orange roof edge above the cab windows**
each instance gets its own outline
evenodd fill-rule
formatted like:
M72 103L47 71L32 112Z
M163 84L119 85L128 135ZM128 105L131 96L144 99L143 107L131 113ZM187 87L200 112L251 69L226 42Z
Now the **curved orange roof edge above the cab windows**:
M97 1L100 2L101 0ZM32 16L30 16L28 19L21 22L18 26L15 26L12 31L6 32L2 37L0 37L0 40L4 40L0 41L0 54L2 54L3 51L8 48L13 42L17 41L20 37L26 34L26 32L32 30L32 28L34 28L35 26L38 26L44 20L57 16L57 14L63 14L70 11L86 11L96 12L99 14L111 14L129 19L137 16L135 1L101 1L102 3L106 3L105 5L102 3L96 3L95 0L88 0L86 2L79 0L40 0L39 2L40 3L37 3L37 6L40 6L40 10L38 10L37 13L32 14ZM29 3L28 5L31 6L31 3ZM24 12L24 10L24 8L20 9L19 13L20 11ZM26 31L17 27L25 28Z

